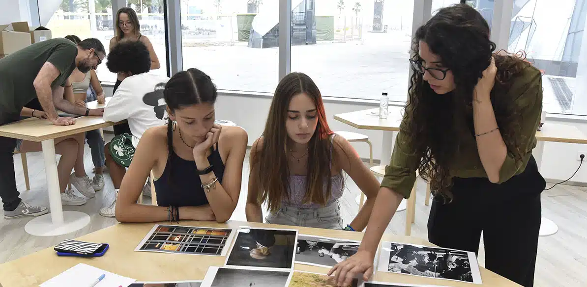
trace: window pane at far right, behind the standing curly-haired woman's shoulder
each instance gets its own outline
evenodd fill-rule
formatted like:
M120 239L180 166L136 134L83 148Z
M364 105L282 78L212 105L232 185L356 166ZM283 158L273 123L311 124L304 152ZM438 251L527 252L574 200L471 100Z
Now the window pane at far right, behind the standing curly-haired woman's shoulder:
M518 12L512 17L508 50L524 50L528 60L543 71L544 110L587 114L587 91L580 84L587 82L587 71L581 71L587 68L579 63L585 57L584 1L516 2L525 5L518 3L521 8L514 9Z

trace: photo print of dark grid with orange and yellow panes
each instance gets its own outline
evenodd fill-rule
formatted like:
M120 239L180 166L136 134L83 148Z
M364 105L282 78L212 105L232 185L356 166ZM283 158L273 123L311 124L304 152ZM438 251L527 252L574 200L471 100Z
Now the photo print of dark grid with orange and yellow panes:
M234 235L229 228L156 224L134 251L226 256Z

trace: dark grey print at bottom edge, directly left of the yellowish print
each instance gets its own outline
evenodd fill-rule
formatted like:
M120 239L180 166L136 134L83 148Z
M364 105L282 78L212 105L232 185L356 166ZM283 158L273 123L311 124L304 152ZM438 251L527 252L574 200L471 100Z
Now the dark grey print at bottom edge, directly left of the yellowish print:
M285 287L291 271L252 267L210 267L201 287Z

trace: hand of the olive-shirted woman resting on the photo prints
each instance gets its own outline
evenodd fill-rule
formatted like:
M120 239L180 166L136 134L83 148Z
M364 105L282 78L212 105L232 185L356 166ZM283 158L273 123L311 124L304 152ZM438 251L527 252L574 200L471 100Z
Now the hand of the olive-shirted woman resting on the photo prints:
M337 286L349 286L358 274L363 274L363 280L369 281L373 275L373 255L368 251L359 250L355 255L330 269L328 275L332 274L335 274Z

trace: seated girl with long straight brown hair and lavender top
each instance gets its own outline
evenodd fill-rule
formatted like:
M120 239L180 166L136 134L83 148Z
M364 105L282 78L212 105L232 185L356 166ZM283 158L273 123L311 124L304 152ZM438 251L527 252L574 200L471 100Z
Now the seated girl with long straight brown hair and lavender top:
M265 131L251 148L248 221L342 229L340 204L343 171L367 196L355 220L345 227L367 225L379 183L346 139L328 127L322 95L312 79L291 73L278 84Z

